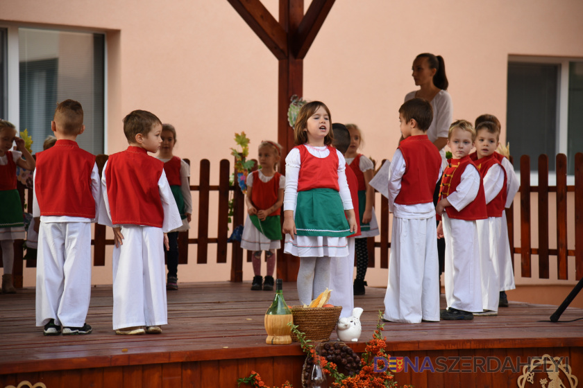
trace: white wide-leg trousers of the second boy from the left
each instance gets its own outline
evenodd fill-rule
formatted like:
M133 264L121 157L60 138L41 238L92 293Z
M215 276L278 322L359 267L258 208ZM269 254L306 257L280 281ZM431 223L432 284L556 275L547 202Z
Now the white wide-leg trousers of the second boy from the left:
M167 324L162 229L122 226L113 249L113 329Z

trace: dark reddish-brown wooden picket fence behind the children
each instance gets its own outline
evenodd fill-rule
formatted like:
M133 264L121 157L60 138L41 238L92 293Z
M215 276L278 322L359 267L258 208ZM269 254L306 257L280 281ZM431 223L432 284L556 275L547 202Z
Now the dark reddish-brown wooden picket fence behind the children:
M100 168L107 160L107 155L98 155L96 161ZM187 159L185 159L187 160ZM507 222L509 242L512 254L521 255L521 276L532 276L532 255L538 255L539 259L539 279L549 279L549 257L557 256L557 279L565 280L568 278L568 256L575 256L575 273L576 279L583 276L583 154L581 152L575 155L575 185L567 185L567 159L563 154L556 157L556 186L548 184L548 156L541 155L538 160L539 184L538 186L530 185L530 157L523 155L520 160L521 170L521 188L520 202L521 220L520 235L521 245L514 246L514 204L507 210ZM189 161L187 161L189 163ZM198 185L190 186L191 191L198 193L198 203L193 201L193 208L198 207L198 218L193 220L197 223L196 238L191 238L189 231L181 232L179 235L179 252L180 264L188 263L189 245L196 244L196 264L208 263L208 247L210 244L217 245L216 263L227 263L228 244L231 243L231 269L230 281L242 281L243 279L243 249L240 243L228 241L229 234L234 227L243 224L245 220L244 195L235 186L229 183L229 177L232 173L230 162L223 159L219 163L219 184L217 186L210 184L210 161L202 159L199 164L199 182ZM527 189L525 189L527 188ZM22 206L32 212L33 191L26 190L22 184L19 184L19 191L22 198ZM210 193L218 192L218 207L210 209ZM234 215L232 222L228 222L228 207L230 192L233 192ZM574 208L568 209L567 193L573 192L575 195ZM532 247L531 240L531 193L537 193L538 196L538 248ZM556 217L557 217L557 247L549 247L549 193L556 193ZM568 212L575 214L575 249L568 249L567 245L567 227ZM217 219L217 237L209 237L209 220L211 217ZM374 268L376 264L375 251L379 249L380 261L378 267L389 267L389 248L391 247L389 239L389 204L387 198L380 195L380 236L378 238L369 238L369 267ZM103 225L96 224L94 227L94 265L105 265L105 246L113 245L113 240L105 238L106 228ZM14 277L15 285L22 287L23 272L23 241L15 241L15 266ZM281 256L281 250L278 252ZM1 259L1 256L0 256ZM251 252L247 252L246 261L251 261ZM278 257L278 265L282 263L282 258ZM33 260L26 261L26 267L35 267ZM279 273L278 273L279 276ZM294 274L291 274L293 277Z

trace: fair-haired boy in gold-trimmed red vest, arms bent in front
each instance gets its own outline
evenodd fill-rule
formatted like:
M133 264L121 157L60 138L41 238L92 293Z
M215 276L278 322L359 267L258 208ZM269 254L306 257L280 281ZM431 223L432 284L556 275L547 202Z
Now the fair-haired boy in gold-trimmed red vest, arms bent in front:
M486 198L478 168L468 156L475 140L475 130L465 120L455 121L448 132L448 147L453 159L441 179L440 200L435 211L443 219L437 236L446 239L445 320L473 319L482 312L480 239L476 220L486 220ZM482 236L482 241L488 236Z

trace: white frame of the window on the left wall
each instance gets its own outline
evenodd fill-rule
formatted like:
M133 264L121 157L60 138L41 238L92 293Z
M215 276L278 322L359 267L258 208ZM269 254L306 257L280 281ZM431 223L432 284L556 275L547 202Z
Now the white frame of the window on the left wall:
M8 49L6 58L7 62L7 95L8 95L8 109L6 120L20 128L20 76L19 76L19 28L36 28L39 30L51 31L71 31L75 33L94 33L105 35L103 49L103 153L108 153L108 34L105 31L87 30L83 28L70 28L64 26L55 26L54 28L47 28L42 26L35 26L34 24L17 24L1 21L1 28L8 30Z

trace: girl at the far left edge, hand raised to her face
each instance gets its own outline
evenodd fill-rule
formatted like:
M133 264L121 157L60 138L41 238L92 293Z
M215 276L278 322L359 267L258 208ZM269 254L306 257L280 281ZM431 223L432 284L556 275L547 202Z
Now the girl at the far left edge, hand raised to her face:
M24 238L24 218L20 195L16 189L16 166L34 170L35 159L26 147L24 140L16 136L15 126L0 119L0 247L2 248L2 292L14 294L12 267L14 266L14 240ZM16 143L17 151L12 150ZM24 156L24 159L22 158Z

